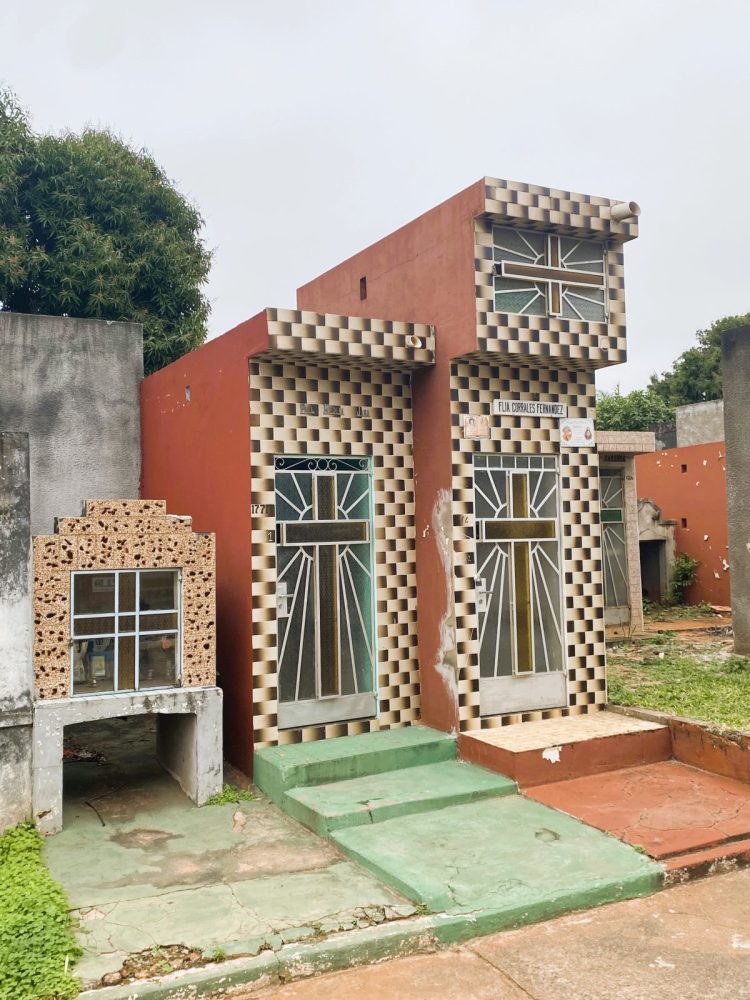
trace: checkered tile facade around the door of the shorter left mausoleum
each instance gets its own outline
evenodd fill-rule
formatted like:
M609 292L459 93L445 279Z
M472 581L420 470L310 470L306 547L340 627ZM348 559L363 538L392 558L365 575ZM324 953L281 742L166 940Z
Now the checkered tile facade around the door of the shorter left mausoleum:
M378 715L280 730L277 720L276 544L273 513L252 518L253 714L256 747L404 726L419 719L411 375L280 360L250 362L254 511L273 511L276 455L369 456L373 465ZM303 416L300 404L342 407ZM356 416L357 407L369 417ZM260 506L256 506L260 505Z

